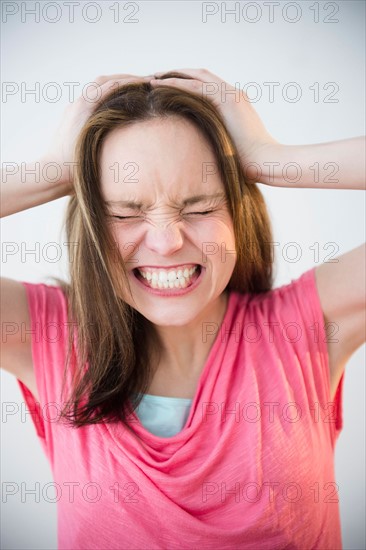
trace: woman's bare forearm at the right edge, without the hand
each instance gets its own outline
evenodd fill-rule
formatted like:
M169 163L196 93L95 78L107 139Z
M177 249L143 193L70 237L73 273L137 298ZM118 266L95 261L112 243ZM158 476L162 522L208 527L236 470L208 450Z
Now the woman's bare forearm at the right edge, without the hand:
M256 181L275 187L365 189L365 137L311 145L270 145L258 153Z

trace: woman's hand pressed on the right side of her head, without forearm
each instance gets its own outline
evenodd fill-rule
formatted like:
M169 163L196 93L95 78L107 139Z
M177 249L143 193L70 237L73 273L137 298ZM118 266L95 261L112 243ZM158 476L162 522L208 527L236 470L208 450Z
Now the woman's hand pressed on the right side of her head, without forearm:
M164 78L164 72L154 73L152 85L166 85L201 94L211 101L220 112L226 128L234 140L241 164L249 182L261 180L261 167L268 155L273 156L281 145L269 134L247 95L220 77L205 69L174 69L191 79ZM269 159L271 160L271 159ZM268 183L263 181L263 183Z

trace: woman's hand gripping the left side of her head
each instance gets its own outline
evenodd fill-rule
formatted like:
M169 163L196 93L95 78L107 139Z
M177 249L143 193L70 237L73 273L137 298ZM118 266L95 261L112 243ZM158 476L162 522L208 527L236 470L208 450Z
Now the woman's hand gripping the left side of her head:
M73 194L75 145L87 119L113 87L116 89L118 85L130 82L149 82L151 78L153 78L152 75L134 76L129 74L98 76L93 83L90 83L93 85L90 86L89 90L88 87L84 89L84 95L81 95L75 102L66 107L49 149L39 159L43 165L47 163L57 164L57 170L60 174L57 183L67 190L66 194Z

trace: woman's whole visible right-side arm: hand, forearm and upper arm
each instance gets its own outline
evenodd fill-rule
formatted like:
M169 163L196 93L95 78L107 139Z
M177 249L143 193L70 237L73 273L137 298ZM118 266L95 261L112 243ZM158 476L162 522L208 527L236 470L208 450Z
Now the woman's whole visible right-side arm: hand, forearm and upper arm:
M364 137L314 145L280 144L269 134L244 92L205 69L177 72L189 78L159 80L163 73L155 73L152 84L176 86L212 101L236 145L248 184L365 189ZM365 260L362 245L340 256L338 262L315 269L324 321L339 327L339 342L328 342L332 397L346 361L366 341Z

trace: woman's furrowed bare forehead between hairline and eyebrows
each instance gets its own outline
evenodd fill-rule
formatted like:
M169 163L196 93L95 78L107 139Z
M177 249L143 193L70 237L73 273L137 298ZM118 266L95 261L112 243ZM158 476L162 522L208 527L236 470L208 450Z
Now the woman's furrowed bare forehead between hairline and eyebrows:
M211 144L193 123L181 117L152 119L110 132L100 154L105 199L154 194L223 190Z

